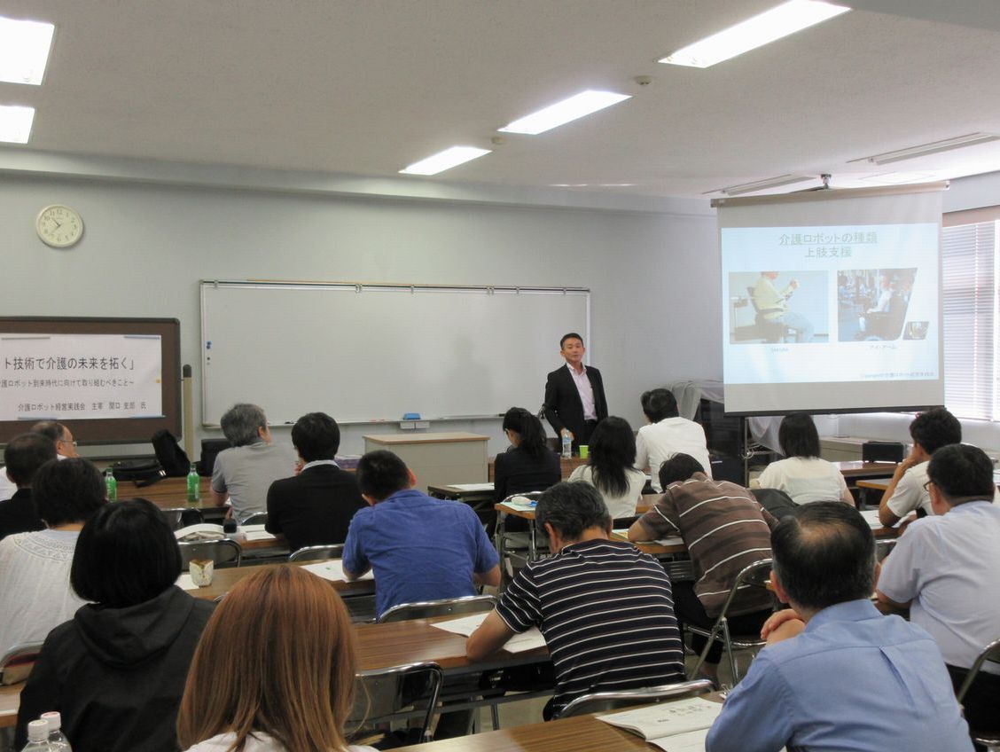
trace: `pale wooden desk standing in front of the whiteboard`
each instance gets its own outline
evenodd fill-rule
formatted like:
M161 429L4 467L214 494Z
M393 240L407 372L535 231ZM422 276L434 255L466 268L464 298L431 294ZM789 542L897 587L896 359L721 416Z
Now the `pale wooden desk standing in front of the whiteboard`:
M367 435L365 452L388 449L417 476L417 488L486 480L486 442L476 433L412 433Z

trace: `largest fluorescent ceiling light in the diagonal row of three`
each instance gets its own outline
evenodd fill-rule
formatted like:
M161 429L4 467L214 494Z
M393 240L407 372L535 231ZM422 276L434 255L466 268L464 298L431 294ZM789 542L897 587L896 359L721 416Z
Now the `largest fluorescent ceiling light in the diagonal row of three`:
M667 55L660 62L708 68L849 10L845 5L820 0L789 0L759 16L748 18L699 42L689 44Z

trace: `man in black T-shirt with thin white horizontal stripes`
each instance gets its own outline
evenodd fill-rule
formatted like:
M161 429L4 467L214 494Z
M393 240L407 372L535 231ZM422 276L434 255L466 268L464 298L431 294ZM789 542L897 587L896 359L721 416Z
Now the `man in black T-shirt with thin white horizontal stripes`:
M684 656L670 579L658 561L608 540L611 516L597 489L559 483L535 509L552 557L529 562L469 637L479 660L516 633L538 627L556 673L551 718L590 692L638 689L684 680Z

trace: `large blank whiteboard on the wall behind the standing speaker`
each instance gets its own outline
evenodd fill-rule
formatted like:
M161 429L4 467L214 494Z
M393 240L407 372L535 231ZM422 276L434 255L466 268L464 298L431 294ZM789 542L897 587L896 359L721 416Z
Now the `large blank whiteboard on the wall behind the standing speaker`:
M589 343L583 288L201 283L202 423L237 402L272 424L534 412L559 339Z

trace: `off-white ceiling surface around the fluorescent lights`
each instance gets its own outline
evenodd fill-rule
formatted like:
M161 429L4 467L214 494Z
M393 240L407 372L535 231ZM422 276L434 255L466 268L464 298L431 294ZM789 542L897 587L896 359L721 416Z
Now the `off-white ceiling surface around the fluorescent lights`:
M850 163L1000 133L1000 2L845 2L699 70L656 60L777 0L0 0L56 24L44 84L0 83L0 104L37 110L0 168L25 149L396 177L463 144L494 152L441 179L682 197L787 173L1000 170L1000 142ZM634 96L491 146L586 88Z

